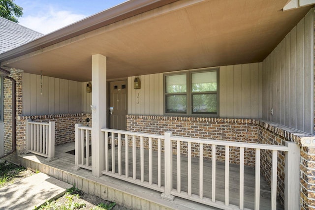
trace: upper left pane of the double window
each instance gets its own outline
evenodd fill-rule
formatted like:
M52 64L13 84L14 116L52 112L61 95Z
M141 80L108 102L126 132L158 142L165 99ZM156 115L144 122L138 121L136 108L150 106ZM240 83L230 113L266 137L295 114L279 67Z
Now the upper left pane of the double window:
M166 93L187 91L186 74L166 76Z

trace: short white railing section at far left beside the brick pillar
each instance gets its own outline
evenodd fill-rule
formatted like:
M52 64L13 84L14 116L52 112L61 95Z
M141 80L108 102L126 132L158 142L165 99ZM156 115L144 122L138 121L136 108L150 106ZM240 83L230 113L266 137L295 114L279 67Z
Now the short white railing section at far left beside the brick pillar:
M27 151L47 157L47 161L55 157L55 122L26 121Z

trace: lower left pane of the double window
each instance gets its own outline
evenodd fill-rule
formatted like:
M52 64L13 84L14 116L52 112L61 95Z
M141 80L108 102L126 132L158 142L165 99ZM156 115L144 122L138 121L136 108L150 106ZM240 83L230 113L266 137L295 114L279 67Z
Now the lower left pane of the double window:
M166 95L166 113L186 113L187 96L186 95Z

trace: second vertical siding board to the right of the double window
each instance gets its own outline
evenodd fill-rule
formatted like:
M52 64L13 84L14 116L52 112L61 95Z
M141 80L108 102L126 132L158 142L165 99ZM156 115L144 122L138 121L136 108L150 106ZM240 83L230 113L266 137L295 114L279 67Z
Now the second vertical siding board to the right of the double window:
M226 66L226 117L234 118L234 66Z

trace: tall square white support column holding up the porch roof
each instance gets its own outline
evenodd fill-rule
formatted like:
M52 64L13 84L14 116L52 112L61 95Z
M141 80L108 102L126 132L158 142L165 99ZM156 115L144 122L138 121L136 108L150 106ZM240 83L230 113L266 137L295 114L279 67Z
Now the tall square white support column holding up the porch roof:
M106 57L92 56L92 173L100 177L105 169L104 134L106 128Z

